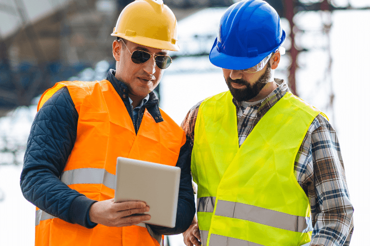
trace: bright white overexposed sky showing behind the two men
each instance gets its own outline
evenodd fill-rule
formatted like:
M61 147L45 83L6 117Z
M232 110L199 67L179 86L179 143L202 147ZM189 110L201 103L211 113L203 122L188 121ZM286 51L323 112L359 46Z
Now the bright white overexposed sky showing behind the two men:
M0 3L4 1L0 0ZM361 2L364 1L368 0ZM0 16L2 15L0 14ZM207 23L210 18L213 17L204 16L204 21L201 23ZM365 245L368 242L367 224L370 220L368 214L370 185L367 181L370 161L366 155L370 149L370 141L368 140L370 139L368 123L370 122L370 111L367 108L370 81L368 81L368 68L365 67L366 61L364 60L364 57L370 56L370 51L367 49L370 39L369 20L370 10L334 13L334 26L331 30L330 42L334 60L332 79L335 103L334 112L328 112L328 115L330 117L334 113L335 116L333 123L338 131L349 193L355 207L355 232L351 242L352 246ZM189 21L189 23L191 22ZM179 27L181 25L179 23ZM182 29L189 30L193 27ZM182 34L179 32L180 35ZM307 36L307 38L315 37ZM323 77L322 68L325 67L325 63L323 63L326 59L325 53L310 52L301 59L306 67L298 72L299 94L314 106L325 105L327 89L325 86L317 84L317 81L322 80ZM190 70L194 69L194 64L197 64L196 70L198 72L180 72L184 67ZM284 65L282 66L284 67ZM178 124L198 101L227 90L221 70L211 66L207 59L196 58L190 61L178 59L170 68L161 82L161 107ZM200 70L202 70L201 73ZM276 77L286 77L283 71L275 73L275 75ZM323 108L321 109L326 112ZM20 110L22 111L22 109ZM27 111L28 113L26 110L22 112L20 113L21 117L15 122L10 122L7 118L0 119L0 132L11 132L14 137L25 138L24 136L27 136L30 129L31 120L28 118L32 118L35 109ZM34 242L34 206L22 196L19 187L20 172L21 167L0 166L0 187L6 195L6 200L0 202L0 243L2 246L26 246L33 245ZM171 239L173 240L172 246L181 245L181 238L181 235L173 237Z

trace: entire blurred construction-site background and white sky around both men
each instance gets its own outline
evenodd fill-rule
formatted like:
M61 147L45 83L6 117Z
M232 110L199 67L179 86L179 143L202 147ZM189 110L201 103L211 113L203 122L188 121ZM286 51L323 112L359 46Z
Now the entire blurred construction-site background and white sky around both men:
M62 80L101 80L114 68L110 36L126 0L0 0L0 245L34 244L34 206L20 185L40 95ZM237 0L163 0L178 20L179 52L156 93L178 124L198 101L226 91L209 51ZM355 207L351 245L368 245L370 0L269 0L287 34L275 77L325 112L338 132ZM184 245L182 235L166 244Z

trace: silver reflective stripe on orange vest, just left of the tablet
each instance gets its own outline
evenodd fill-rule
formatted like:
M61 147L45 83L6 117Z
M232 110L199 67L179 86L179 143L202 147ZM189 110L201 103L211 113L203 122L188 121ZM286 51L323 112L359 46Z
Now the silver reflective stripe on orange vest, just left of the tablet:
M80 168L64 171L61 180L67 186L76 183L102 183L110 189L116 187L116 175L100 168Z

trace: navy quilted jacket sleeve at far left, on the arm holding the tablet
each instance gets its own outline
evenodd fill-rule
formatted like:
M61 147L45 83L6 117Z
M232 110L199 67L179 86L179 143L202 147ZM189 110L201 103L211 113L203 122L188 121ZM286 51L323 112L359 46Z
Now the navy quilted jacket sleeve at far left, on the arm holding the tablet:
M63 87L36 114L21 174L23 196L36 207L70 223L88 226L86 215L95 202L60 179L77 135L78 113Z

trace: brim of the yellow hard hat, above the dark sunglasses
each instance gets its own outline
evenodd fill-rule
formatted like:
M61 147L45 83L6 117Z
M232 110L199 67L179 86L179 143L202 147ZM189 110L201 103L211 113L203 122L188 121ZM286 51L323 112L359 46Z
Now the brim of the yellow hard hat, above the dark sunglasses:
M171 50L171 51L180 50L177 44L174 45L171 42L164 41L164 40L159 40L159 39L154 39L154 38L149 38L149 37L141 37L141 36L127 36L124 33L115 33L115 32L110 35L116 36L116 37L122 37L135 44L144 45L144 46L155 48L155 49Z

